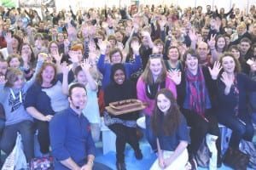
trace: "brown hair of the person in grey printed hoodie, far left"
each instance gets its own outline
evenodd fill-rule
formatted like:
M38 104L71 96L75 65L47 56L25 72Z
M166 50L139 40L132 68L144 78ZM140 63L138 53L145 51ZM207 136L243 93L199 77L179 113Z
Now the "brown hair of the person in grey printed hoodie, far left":
M24 74L20 69L17 68L9 68L6 73L7 82L5 83L5 87L12 88L14 83L18 80L18 77L22 76L24 79Z

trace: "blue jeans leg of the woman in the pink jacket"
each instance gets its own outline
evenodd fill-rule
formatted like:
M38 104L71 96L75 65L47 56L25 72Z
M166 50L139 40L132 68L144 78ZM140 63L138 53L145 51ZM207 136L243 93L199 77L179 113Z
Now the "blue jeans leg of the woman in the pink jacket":
M145 117L146 117L146 138L148 139L148 143L150 144L152 150L157 151L156 137L152 131L150 116L145 115Z

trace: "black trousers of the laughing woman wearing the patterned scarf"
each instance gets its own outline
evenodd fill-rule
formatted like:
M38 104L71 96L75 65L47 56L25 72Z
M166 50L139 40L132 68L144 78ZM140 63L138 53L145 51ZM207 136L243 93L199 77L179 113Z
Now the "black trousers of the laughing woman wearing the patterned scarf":
M203 139L207 133L218 136L216 141L216 147L218 150L218 156L221 153L220 147L220 131L218 128L218 120L216 116L213 116L210 111L207 111L205 120L202 116L196 114L194 111L183 110L183 115L186 117L190 129L191 144L189 144L189 156L195 156L199 149Z

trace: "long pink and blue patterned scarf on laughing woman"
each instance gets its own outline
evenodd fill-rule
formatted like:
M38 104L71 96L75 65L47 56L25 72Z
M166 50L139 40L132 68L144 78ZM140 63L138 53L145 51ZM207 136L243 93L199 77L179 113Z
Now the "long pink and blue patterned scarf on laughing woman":
M201 67L198 67L196 75L185 69L186 91L189 93L189 109L201 116L205 116L207 99L209 99L205 77Z

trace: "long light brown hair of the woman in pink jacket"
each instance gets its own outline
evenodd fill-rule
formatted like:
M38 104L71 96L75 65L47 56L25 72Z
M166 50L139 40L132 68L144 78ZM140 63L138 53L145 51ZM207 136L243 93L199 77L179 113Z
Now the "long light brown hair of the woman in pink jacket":
M166 65L165 65L164 59L162 57L149 57L148 63L145 67L145 70L143 71L142 76L141 76L143 79L143 82L145 82L149 85L152 85L154 83L153 74L152 74L152 71L150 71L151 59L160 59L160 62L162 65L162 71L160 72L159 77L157 77L156 83L165 81L166 80Z

